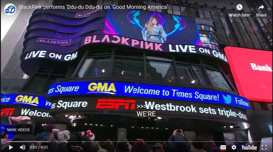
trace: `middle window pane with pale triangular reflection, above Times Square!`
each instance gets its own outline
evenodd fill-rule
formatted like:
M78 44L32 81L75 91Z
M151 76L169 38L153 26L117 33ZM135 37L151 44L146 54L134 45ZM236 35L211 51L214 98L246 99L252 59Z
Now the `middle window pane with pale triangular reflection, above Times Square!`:
M174 64L146 61L147 80L177 82Z

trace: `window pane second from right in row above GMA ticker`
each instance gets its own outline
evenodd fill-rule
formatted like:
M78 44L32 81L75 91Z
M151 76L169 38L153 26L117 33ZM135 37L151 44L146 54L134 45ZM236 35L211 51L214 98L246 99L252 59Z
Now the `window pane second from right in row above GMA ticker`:
M181 83L207 85L205 74L200 66L177 64Z

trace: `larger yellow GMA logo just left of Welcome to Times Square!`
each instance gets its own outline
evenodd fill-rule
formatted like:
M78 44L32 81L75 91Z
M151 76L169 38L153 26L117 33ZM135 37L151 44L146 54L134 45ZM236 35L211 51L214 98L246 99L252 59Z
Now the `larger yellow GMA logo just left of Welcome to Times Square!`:
M116 88L114 83L108 84L108 82L92 82L88 85L88 90L91 92L87 93L108 93L108 94L116 94Z

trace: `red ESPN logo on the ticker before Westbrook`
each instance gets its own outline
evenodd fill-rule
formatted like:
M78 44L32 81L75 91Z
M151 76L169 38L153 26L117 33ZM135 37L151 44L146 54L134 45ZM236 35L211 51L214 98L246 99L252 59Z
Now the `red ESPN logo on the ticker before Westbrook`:
M98 99L96 108L97 109L119 109L120 106L124 106L125 110L128 110L129 108L131 110L134 110L135 109L135 103L136 103L135 100Z

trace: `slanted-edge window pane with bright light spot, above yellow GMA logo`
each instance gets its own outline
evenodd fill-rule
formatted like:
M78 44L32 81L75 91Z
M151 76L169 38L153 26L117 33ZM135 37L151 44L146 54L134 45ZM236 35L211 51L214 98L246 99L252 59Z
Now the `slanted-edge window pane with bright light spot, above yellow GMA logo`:
M110 57L86 59L78 73L79 78L107 77L109 73L109 64Z

